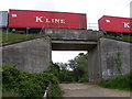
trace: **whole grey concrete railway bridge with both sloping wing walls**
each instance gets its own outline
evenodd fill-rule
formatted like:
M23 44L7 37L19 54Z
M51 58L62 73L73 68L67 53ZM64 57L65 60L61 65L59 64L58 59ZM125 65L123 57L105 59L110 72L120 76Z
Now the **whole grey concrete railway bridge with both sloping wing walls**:
M44 36L3 44L2 63L15 64L30 73L40 73L50 66L52 51L88 51L90 81L128 73L132 62L129 56L131 44L101 35L101 31L46 29ZM121 62L120 70L116 59Z

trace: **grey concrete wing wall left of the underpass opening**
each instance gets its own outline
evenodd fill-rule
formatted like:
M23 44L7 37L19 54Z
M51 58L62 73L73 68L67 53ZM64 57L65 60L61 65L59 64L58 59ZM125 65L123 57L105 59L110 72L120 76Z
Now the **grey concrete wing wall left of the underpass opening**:
M15 64L30 73L46 70L50 66L51 53L48 36L2 47L3 64Z

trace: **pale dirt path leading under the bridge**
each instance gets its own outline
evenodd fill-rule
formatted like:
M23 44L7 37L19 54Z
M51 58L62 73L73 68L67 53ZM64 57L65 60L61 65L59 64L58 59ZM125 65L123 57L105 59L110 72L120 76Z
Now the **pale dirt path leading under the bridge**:
M61 84L63 97L130 97L130 91L101 88L91 84Z

